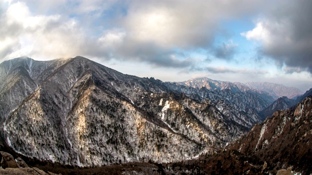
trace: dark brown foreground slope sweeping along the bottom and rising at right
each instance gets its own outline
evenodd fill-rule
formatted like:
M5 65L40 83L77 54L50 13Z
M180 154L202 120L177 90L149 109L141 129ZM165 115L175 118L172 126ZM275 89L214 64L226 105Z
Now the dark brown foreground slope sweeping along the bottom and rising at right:
M62 174L310 175L311 118L312 96L309 96L292 109L276 111L224 148L193 159L171 163L130 162L87 169L39 168Z

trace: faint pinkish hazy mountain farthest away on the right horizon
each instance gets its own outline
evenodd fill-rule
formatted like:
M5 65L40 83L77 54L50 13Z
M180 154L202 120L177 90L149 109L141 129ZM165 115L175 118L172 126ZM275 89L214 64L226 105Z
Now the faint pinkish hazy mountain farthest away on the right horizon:
M283 96L286 96L292 99L294 97L297 97L303 94L303 92L298 88L287 87L287 86L275 84L275 83L248 82L246 83L246 85L250 88L255 88L258 90L266 91L276 99L279 97L283 97Z

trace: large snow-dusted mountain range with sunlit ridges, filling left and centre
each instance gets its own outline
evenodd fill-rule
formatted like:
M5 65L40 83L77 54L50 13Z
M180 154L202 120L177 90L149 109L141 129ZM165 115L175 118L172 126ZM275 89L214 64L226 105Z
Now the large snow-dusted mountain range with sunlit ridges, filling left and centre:
M83 57L0 64L0 143L64 165L174 162L214 151L264 119L273 98L122 74Z

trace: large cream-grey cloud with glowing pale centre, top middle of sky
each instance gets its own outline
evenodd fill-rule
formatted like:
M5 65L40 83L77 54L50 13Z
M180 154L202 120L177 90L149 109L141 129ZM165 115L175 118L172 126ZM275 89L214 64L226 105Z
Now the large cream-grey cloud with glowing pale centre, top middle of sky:
M248 0L135 0L120 25L138 41L207 49L220 30L220 21L248 14L259 4Z

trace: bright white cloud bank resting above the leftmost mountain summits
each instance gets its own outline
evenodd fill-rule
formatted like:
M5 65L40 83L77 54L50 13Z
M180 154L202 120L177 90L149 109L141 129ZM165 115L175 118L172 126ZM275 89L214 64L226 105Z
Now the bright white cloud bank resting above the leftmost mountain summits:
M0 55L53 59L79 54L84 39L77 21L60 15L33 15L24 2L9 5L1 18ZM78 42L77 42L78 41Z

